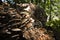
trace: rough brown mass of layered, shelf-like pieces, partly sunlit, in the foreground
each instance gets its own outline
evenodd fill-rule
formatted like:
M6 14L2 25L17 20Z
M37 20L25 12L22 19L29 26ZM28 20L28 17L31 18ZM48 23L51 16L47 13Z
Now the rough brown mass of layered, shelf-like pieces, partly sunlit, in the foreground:
M16 8L12 8L8 3L2 3L0 5L0 39L55 40L54 35L42 28L42 21L46 20L41 20L43 19L43 11L39 10L32 3L16 4Z

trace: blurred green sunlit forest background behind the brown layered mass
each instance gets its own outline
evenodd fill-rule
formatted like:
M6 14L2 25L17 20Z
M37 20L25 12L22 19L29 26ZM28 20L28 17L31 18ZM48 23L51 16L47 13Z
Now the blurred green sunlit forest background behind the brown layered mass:
M57 40L60 40L60 0L2 0L10 4L14 3L34 3L46 12L47 22L46 27L51 27L57 35Z

